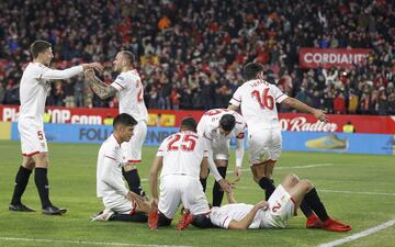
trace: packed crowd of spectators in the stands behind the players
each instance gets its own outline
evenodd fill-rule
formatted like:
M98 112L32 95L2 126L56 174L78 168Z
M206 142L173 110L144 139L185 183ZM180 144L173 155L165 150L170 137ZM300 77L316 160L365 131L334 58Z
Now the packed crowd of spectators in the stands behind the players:
M53 44L54 67L100 61L111 82L121 48L138 57L150 109L225 108L248 61L268 81L336 114L395 114L395 8L385 0L98 0L0 2L0 103L19 104L29 45ZM298 66L300 47L371 48L353 69ZM53 83L48 105L110 106L82 77ZM281 109L290 111L290 109Z

